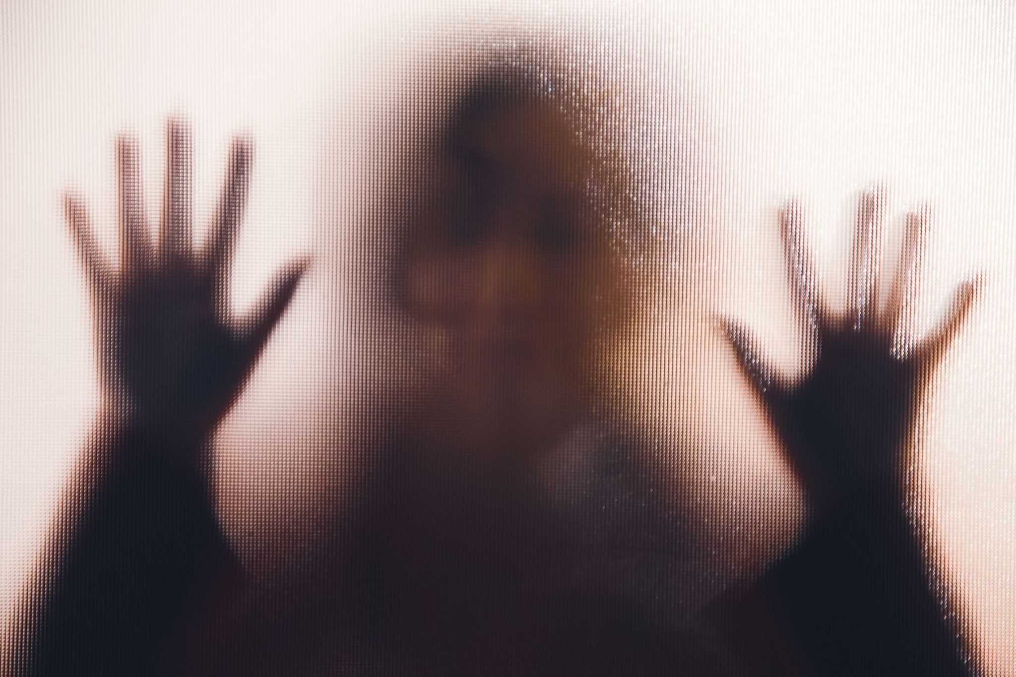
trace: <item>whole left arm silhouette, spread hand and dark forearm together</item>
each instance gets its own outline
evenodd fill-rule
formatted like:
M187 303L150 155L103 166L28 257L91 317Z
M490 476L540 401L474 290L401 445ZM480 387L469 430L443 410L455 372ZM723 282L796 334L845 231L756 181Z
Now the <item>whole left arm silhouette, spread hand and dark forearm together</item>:
M36 574L16 674L157 674L187 624L237 581L208 496L206 450L303 270L287 270L254 317L230 318L230 261L249 163L248 144L236 142L208 244L196 251L190 139L171 122L152 244L136 150L121 140L116 272L83 206L67 200L93 302L106 405Z

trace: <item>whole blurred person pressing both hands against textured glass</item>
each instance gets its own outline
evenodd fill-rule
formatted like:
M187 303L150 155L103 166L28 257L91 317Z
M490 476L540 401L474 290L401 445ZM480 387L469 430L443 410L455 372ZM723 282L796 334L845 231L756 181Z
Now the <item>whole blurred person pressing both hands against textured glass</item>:
M604 406L597 368L633 307L604 218L621 208L624 173L562 95L509 64L452 107L390 276L404 312L438 330L440 363L422 397L378 405L328 556L253 593L216 526L205 451L303 264L255 317L229 320L249 145L234 147L195 251L186 128L170 124L157 247L143 235L136 151L121 143L117 273L68 201L109 406L24 609L18 674L967 674L901 473L972 287L936 334L900 349L910 266L878 313L880 198L862 200L842 316L811 281L798 211L783 212L812 370L785 383L724 326L814 520L757 586L688 622L668 604L684 534L637 435ZM911 218L907 260L923 224Z

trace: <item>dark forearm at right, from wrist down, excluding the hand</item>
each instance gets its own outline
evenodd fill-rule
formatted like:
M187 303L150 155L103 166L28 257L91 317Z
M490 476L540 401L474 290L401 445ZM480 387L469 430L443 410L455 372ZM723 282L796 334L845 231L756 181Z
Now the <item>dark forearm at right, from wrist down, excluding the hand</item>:
M764 581L823 675L969 675L902 492L858 488L816 516Z

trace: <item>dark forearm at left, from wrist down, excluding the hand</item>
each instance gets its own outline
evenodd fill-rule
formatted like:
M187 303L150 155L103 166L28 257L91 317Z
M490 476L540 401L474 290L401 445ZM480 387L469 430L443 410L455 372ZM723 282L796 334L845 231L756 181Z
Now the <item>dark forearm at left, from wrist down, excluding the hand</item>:
M138 424L100 436L36 576L21 674L158 672L234 568L193 462L200 445Z

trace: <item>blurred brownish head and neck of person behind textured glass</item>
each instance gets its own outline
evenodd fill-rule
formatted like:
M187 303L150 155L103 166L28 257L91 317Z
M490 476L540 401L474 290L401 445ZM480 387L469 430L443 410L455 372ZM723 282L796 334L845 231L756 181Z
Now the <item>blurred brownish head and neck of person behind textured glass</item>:
M548 88L495 68L465 90L398 266L405 310L440 345L456 425L526 453L592 406L634 287L614 243L624 173L581 107Z

